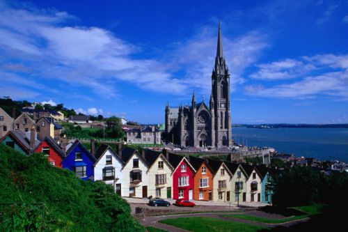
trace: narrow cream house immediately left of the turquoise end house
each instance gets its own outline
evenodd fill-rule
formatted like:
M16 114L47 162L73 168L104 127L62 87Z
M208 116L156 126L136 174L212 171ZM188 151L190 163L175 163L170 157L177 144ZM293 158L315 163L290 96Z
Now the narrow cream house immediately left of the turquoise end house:
M241 166L248 175L246 180L246 201L261 202L262 178L258 169L246 164L242 164Z

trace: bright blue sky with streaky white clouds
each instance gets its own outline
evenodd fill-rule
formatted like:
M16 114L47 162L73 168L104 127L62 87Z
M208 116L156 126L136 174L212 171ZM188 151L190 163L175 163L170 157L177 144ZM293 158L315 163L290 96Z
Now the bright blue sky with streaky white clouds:
M0 0L0 95L163 123L209 99L219 21L232 123L348 123L348 1Z

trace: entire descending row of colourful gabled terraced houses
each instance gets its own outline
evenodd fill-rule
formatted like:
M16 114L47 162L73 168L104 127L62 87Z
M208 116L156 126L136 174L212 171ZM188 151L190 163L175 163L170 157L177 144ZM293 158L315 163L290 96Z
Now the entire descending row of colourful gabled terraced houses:
M39 141L35 132L8 132L0 143L23 154L44 153L58 168L74 171L84 180L102 180L127 197L161 197L197 201L271 202L269 169L247 164L201 159L106 144L90 150L79 140L59 146L52 137Z

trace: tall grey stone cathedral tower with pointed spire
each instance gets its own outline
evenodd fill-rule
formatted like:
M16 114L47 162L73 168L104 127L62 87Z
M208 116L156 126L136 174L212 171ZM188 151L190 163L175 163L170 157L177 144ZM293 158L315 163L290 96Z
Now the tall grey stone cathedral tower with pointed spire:
M230 72L223 56L221 25L216 49L215 65L212 71L212 100L214 106L215 146L232 146L232 123L230 112ZM212 106L211 106L212 108Z

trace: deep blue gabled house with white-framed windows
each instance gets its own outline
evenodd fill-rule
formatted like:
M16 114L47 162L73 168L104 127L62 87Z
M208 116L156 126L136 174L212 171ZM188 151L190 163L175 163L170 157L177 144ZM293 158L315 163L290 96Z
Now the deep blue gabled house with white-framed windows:
M81 144L75 140L67 146L66 156L63 160L63 169L70 169L83 180L94 180L95 157Z

